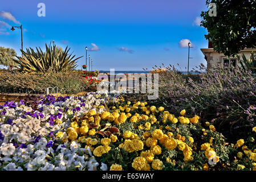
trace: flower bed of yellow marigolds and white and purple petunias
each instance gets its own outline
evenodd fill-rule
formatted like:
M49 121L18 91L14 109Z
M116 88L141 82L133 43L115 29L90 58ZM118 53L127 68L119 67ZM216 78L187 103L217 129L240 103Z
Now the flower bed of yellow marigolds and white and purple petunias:
M231 144L213 125L118 94L0 107L1 170L256 170L256 128Z

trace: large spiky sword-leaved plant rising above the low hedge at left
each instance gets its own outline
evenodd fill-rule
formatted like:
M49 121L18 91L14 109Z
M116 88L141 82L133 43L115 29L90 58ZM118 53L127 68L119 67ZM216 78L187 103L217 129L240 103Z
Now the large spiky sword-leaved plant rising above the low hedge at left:
M32 48L27 48L26 52L22 51L23 55L21 57L16 56L18 60L13 60L21 68L22 72L31 73L44 73L47 71L54 72L67 72L75 69L77 67L76 60L80 59L78 57L74 59L75 55L68 53L70 48L66 47L64 51L58 52L56 46L48 47L46 44L46 51L43 52L42 49L36 47L36 52ZM72 56L72 57L71 57Z

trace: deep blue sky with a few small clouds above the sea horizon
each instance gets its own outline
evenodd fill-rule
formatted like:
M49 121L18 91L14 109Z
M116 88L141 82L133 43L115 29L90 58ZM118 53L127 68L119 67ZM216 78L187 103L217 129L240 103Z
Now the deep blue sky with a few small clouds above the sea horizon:
M38 16L38 3L46 6L46 16ZM198 26L201 11L208 9L205 0L9 0L0 6L0 46L14 48L21 55L21 32L11 26L23 27L23 49L41 47L52 40L57 46L71 48L79 69L87 56L93 69L141 71L154 65L177 65L185 71L203 63L200 48L207 48L205 28Z

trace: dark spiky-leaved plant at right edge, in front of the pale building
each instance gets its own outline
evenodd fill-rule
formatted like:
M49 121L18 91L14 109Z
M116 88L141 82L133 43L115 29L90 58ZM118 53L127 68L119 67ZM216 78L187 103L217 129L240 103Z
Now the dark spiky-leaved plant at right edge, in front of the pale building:
M245 55L242 53L242 59L239 56L238 61L241 64L240 70L241 71L251 71L252 73L256 73L256 56L254 56L254 52L251 52L251 59L247 60Z

